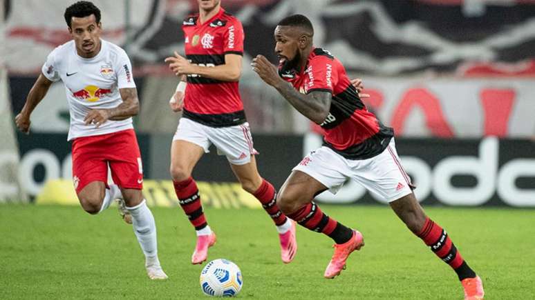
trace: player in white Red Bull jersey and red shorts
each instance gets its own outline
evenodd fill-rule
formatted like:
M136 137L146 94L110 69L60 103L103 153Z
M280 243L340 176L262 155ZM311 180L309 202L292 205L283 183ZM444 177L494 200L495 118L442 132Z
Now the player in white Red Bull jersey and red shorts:
M131 63L122 48L100 39L100 10L78 1L65 10L72 41L48 55L24 108L15 117L28 133L30 114L55 81L63 81L70 108L73 183L82 208L98 214L123 198L145 255L150 279L167 279L158 260L156 224L142 195L142 166L132 116L139 100ZM108 167L116 183L108 185Z

